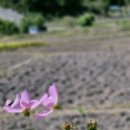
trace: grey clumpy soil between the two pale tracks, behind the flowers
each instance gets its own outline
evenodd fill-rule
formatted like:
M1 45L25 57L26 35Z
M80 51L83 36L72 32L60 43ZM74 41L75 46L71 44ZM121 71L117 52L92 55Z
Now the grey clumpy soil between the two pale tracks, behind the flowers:
M5 91L10 93L4 96L10 97L27 88L35 97L55 82L62 99L60 102L67 107L125 103L130 100L129 55L130 51L125 50L64 53L35 58L1 76L1 89L5 86Z

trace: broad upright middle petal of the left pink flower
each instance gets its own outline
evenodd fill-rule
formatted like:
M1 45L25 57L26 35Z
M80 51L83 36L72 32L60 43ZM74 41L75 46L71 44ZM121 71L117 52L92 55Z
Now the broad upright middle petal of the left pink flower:
M30 104L30 94L28 93L27 90L21 93L21 101L24 102L25 104Z

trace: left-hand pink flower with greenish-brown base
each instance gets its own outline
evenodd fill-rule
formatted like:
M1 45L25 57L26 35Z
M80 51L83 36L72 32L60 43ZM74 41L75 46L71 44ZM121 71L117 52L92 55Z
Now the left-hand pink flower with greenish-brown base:
M29 93L25 90L20 95L17 94L14 102L8 99L5 103L4 110L9 113L21 113L25 116L30 115L30 111L40 105L39 100L31 100Z

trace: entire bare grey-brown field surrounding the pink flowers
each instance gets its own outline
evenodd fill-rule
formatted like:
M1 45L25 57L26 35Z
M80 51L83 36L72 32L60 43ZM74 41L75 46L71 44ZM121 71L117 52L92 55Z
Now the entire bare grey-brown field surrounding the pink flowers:
M90 118L98 121L99 130L129 130L130 36L86 35L39 36L44 47L0 53L1 106L23 89L41 96L55 82L63 107L37 124L32 118L33 126L1 108L0 130L57 130L65 121L84 130Z

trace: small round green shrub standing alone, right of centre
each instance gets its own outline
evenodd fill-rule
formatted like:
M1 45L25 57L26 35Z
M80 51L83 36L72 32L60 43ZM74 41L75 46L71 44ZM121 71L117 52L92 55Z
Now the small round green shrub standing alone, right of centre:
M83 27L91 26L94 20L95 20L94 15L90 13L85 13L79 17L78 23L80 24L80 26L83 26Z

